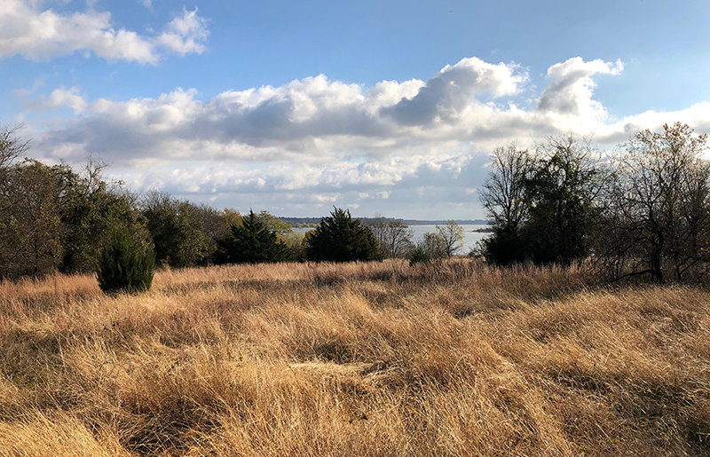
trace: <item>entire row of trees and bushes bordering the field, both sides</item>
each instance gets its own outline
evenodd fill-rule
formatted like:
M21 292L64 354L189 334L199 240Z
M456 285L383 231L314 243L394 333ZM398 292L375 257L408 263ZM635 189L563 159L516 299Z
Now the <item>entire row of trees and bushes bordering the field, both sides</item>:
M99 272L100 281L100 263L118 252L119 239L151 264L176 268L470 254L502 265L585 262L611 281L694 283L710 271L706 136L680 123L638 132L608 154L572 135L533 150L495 149L479 192L490 235L471 253L460 252L459 224L485 221L437 221L437 232L414 243L408 225L421 221L357 219L339 208L319 219L240 214L132 193L107 181L100 162L76 170L23 159L27 152L17 128L0 129L2 279Z

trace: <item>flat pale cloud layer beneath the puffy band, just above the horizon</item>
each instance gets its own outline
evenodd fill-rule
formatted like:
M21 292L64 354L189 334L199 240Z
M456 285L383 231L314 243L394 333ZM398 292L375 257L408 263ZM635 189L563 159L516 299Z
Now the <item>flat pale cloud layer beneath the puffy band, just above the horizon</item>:
M438 211L465 203L475 212L466 186L483 180L485 162L483 154L399 157L383 163L276 163L259 169L227 162L173 162L116 177L133 189L157 187L192 201L210 201L217 207L253 206L318 216L334 205L355 209L360 204L364 211L370 209L364 214L374 214L371 208L377 205L385 214L416 217L411 207ZM407 210L411 211L408 215ZM456 211L461 217L461 208Z

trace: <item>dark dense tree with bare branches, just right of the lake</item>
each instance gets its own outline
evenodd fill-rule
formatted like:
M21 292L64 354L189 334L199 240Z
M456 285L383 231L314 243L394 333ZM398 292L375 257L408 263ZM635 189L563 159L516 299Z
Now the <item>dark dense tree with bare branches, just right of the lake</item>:
M608 174L588 141L549 138L535 157L508 149L493 159L481 198L493 218L486 259L571 264L592 252Z

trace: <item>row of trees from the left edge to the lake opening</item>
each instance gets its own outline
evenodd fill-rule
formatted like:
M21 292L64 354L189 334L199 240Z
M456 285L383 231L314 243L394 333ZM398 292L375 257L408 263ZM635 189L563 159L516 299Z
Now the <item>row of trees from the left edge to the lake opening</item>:
M0 129L0 279L99 272L99 281L110 281L144 262L131 249L149 256L149 264L173 268L377 260L412 256L416 248L427 260L453 255L462 238L451 223L417 247L401 221L375 217L363 224L338 208L311 232L297 233L267 211L241 215L168 193L131 193L107 180L100 162L77 170L24 158L28 142L18 133ZM102 273L106 252L114 253L115 263Z

